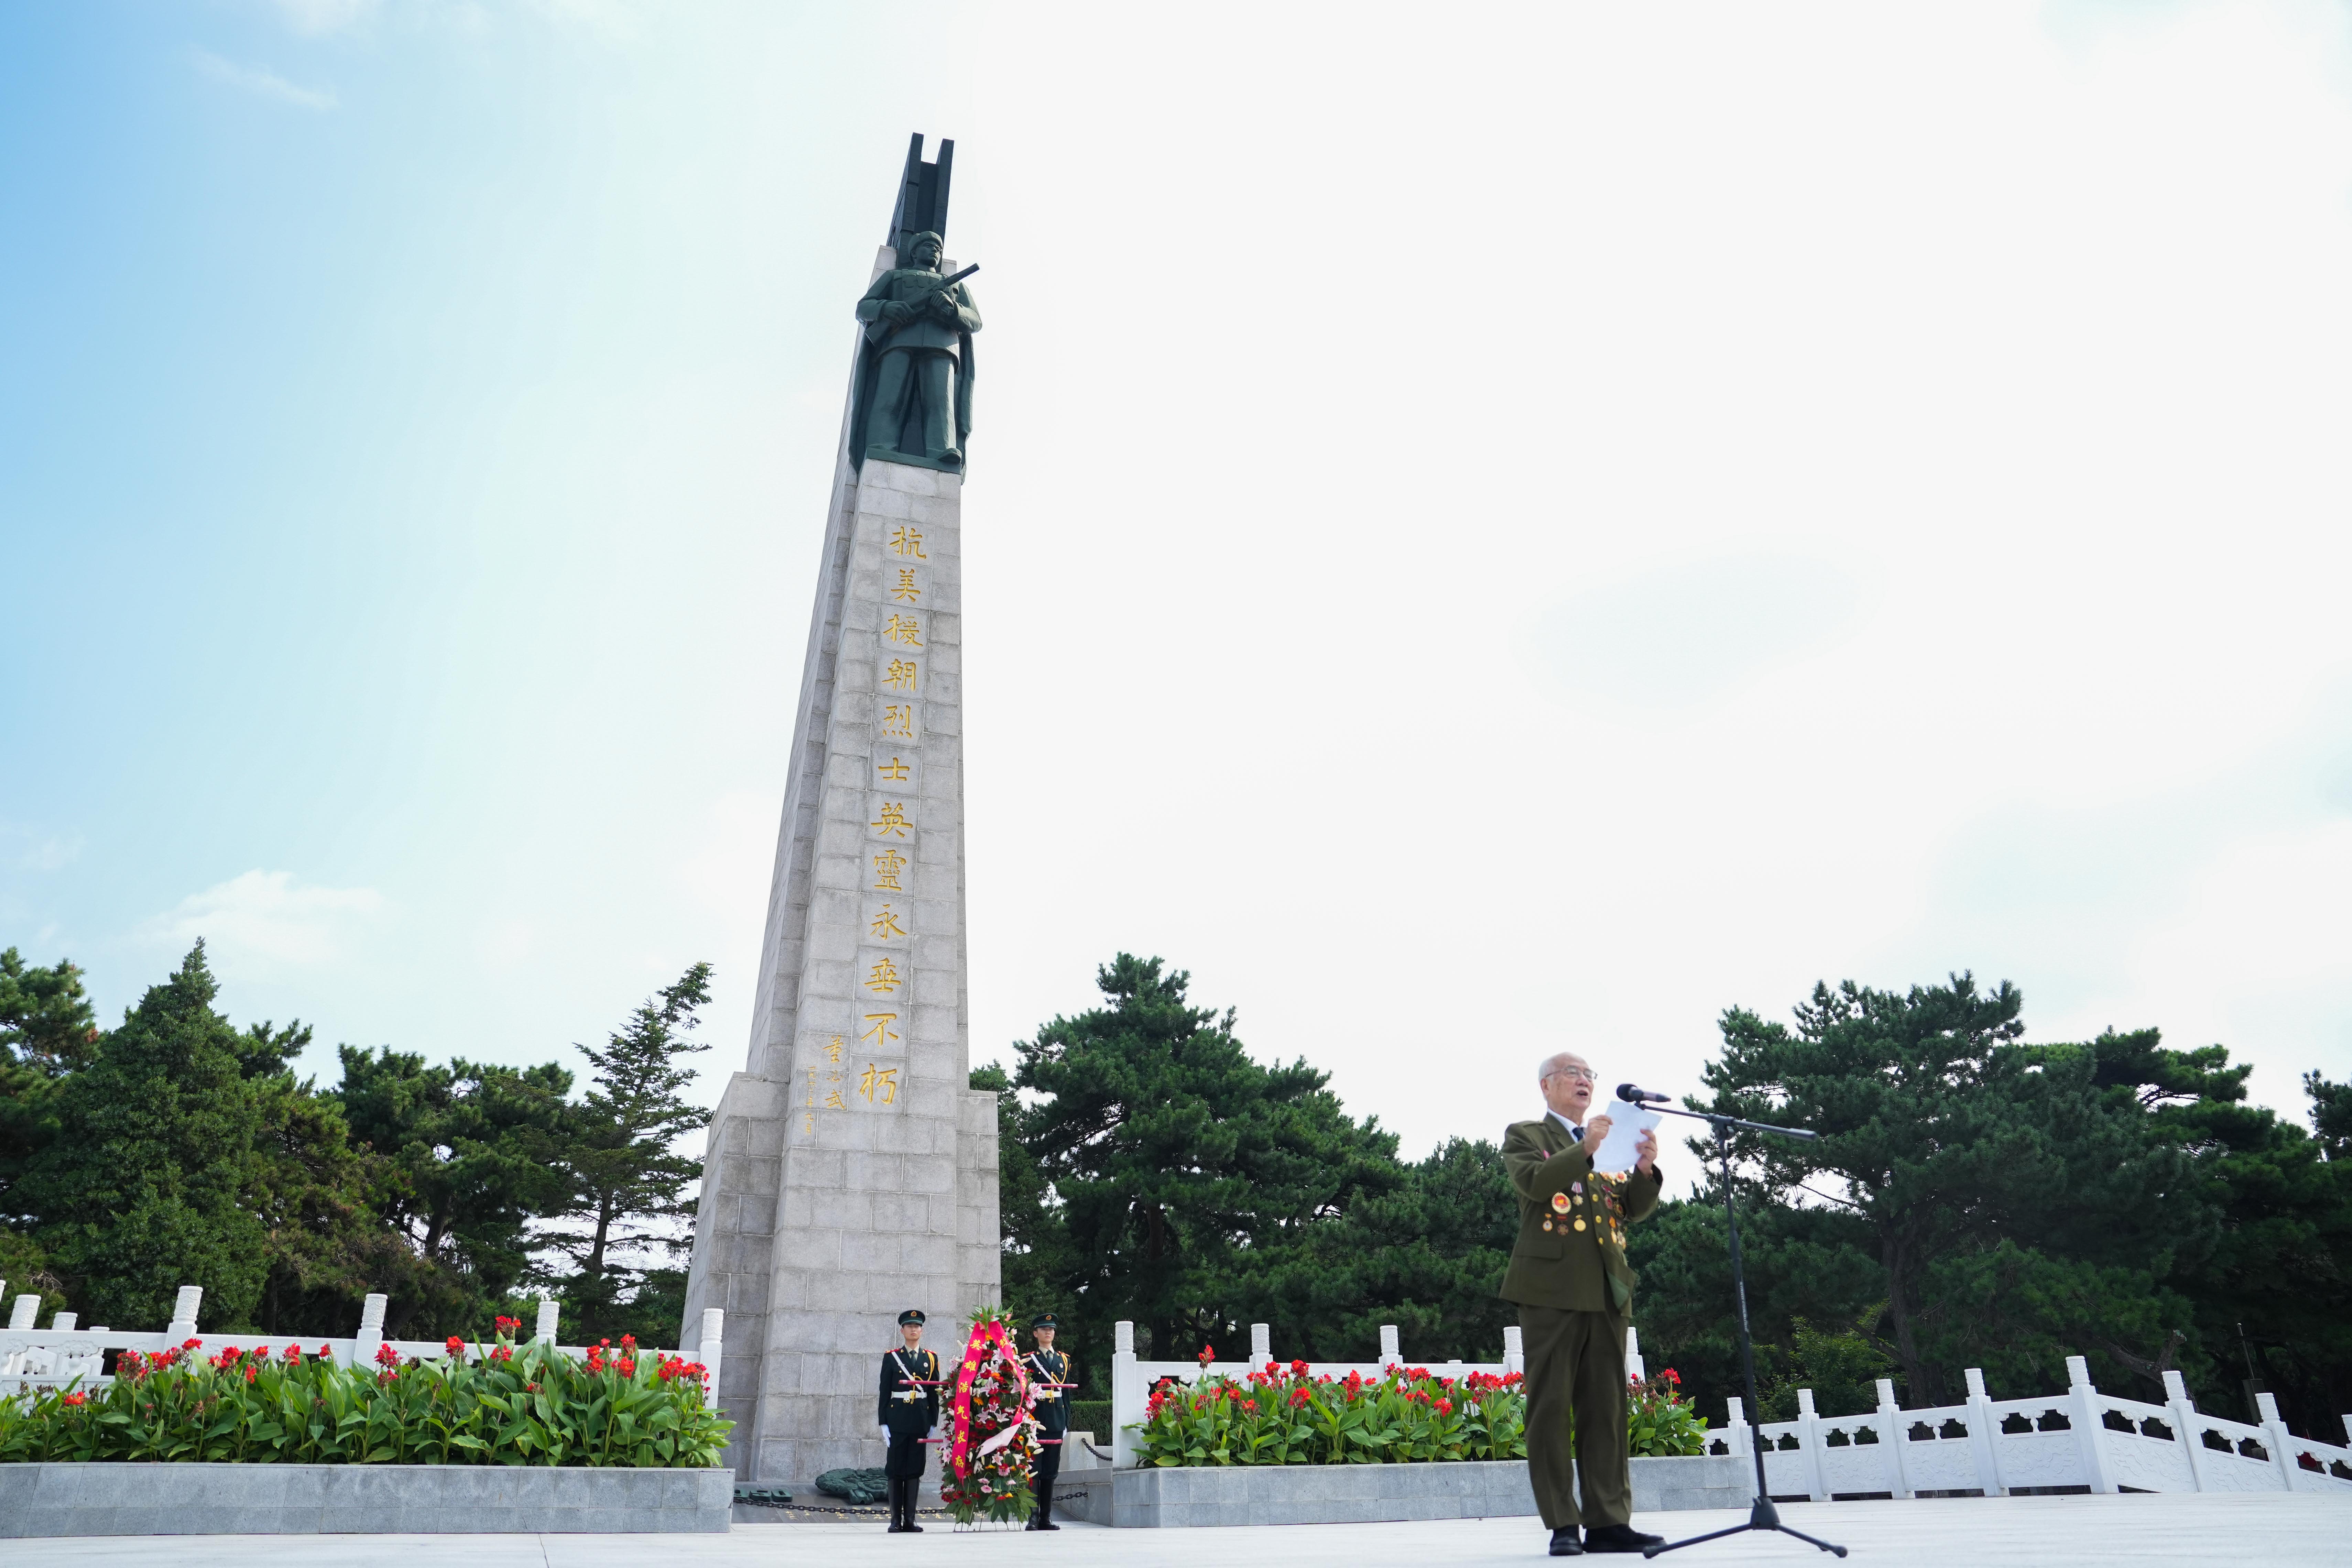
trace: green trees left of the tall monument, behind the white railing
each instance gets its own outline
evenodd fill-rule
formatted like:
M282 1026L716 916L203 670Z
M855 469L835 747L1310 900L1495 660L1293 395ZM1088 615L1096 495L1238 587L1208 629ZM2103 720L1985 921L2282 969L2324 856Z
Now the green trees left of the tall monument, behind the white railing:
M557 1063L428 1063L308 1025L238 1030L198 943L101 1030L71 961L0 952L0 1279L85 1324L160 1328L205 1286L216 1331L487 1335L515 1295L562 1300L564 1338L677 1338L701 1161L680 1138L710 966L635 1009L590 1077ZM579 1088L579 1093L574 1093Z

